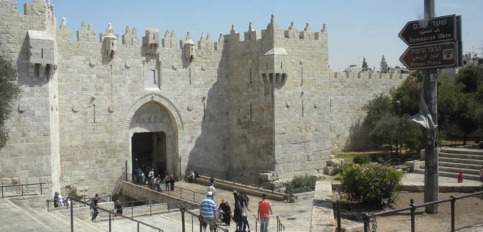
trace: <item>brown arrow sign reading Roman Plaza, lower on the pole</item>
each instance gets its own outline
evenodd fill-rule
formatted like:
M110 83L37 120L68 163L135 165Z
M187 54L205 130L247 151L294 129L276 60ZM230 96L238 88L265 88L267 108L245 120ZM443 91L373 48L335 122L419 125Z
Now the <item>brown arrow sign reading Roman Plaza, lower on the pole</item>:
M409 69L454 67L458 61L455 42L408 47L399 61Z

